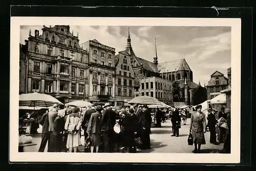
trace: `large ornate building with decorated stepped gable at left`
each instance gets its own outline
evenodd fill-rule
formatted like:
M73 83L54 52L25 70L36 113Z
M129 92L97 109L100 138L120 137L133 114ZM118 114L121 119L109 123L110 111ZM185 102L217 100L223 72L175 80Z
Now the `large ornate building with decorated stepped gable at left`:
M46 93L62 103L88 101L88 51L79 45L69 26L42 28L29 33L24 50L27 60L26 92Z

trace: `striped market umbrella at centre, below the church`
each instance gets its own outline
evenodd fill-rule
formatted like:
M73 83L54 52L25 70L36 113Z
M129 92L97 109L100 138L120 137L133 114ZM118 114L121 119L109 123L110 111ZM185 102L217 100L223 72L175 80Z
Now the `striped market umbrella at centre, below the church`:
M134 97L131 101L129 101L127 104L145 104L145 105L162 105L163 103L157 100L154 97L150 97L147 95Z

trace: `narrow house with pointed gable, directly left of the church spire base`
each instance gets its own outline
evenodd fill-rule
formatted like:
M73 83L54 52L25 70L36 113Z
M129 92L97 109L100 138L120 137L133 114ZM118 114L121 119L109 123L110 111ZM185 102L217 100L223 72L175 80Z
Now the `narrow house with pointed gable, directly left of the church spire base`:
M127 51L119 52L115 57L115 67L115 106L123 106L134 98L134 71L131 55Z

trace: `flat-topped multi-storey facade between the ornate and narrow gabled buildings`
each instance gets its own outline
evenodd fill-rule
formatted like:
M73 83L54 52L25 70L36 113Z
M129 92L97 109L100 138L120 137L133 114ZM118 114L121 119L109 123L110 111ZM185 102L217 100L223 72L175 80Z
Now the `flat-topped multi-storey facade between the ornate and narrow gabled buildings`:
M115 103L115 48L89 40L81 44L89 51L89 101L95 105Z

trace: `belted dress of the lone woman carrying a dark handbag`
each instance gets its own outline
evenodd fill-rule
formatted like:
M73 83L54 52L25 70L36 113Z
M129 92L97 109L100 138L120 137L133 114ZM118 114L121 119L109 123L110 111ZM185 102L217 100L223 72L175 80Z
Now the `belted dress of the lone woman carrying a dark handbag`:
M191 114L190 130L193 142L197 144L205 144L204 130L206 130L206 119L203 112L193 112Z

